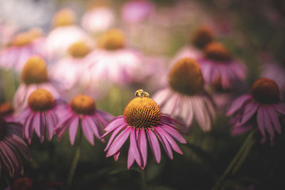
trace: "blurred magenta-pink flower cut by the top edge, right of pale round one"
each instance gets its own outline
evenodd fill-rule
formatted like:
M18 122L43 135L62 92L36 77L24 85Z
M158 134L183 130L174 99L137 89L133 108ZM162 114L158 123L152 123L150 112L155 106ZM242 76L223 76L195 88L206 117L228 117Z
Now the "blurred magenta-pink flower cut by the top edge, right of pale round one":
M148 16L155 12L155 5L151 1L136 0L127 1L123 5L123 20L128 23L138 23L147 19Z

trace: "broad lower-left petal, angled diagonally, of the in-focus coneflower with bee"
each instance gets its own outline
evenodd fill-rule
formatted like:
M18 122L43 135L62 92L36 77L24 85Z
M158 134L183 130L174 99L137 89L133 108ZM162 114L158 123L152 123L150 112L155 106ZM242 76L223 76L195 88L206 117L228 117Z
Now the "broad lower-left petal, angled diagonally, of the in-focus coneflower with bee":
M115 138L114 142L111 144L110 148L108 149L106 157L110 157L116 152L118 152L120 147L122 147L125 141L128 139L131 129L132 129L131 127L126 127L125 130L120 132L118 137Z

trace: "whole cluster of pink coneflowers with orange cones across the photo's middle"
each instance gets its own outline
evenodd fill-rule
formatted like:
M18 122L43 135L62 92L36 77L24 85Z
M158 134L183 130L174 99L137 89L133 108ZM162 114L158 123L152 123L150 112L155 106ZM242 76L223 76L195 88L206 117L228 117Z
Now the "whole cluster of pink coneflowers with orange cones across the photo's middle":
M148 63L142 53L128 48L123 31L110 29L95 44L75 21L73 11L63 9L54 17L48 36L33 28L16 34L1 50L1 67L21 71L13 108L9 103L0 106L0 168L10 176L23 174L19 153L31 159L25 140L33 143L34 133L43 142L45 136L48 140L54 135L61 138L68 130L71 145L76 135L84 134L94 145L94 136L104 142L110 134L106 157L113 156L116 161L130 139L128 168L136 162L145 169L147 144L157 163L160 144L173 159L172 150L182 154L177 142L187 143L181 131L195 122L204 132L211 130L217 108L226 107L228 100L221 104L211 94L237 90L246 76L245 66L214 40L209 28L202 27L177 53L169 70L165 69L161 89L152 97L138 90L123 115L113 117L98 110L94 97L102 96L100 92L108 91L114 83L126 85L155 75L151 70L155 63ZM50 70L46 63L53 63ZM276 132L281 133L285 120L278 85L260 78L249 94L232 102L227 115L232 116L232 134L254 129L272 140ZM75 159L78 162L78 157Z

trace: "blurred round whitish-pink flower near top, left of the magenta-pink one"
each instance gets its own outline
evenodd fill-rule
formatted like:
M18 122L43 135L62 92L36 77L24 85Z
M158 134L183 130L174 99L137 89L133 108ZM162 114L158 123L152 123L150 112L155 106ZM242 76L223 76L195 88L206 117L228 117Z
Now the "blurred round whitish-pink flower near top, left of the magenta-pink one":
M89 33L108 30L115 23L115 13L108 6L95 6L83 14L81 25Z

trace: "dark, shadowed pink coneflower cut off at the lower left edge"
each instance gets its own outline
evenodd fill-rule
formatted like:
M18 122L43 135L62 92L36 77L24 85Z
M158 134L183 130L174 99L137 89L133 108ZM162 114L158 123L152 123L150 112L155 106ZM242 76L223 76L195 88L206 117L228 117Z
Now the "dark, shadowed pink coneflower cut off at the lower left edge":
M21 138L21 125L0 118L0 168L12 177L23 174L19 152L31 159L28 146Z

